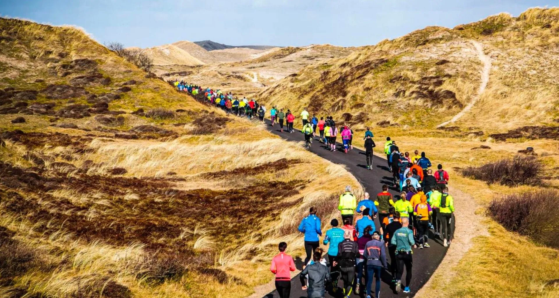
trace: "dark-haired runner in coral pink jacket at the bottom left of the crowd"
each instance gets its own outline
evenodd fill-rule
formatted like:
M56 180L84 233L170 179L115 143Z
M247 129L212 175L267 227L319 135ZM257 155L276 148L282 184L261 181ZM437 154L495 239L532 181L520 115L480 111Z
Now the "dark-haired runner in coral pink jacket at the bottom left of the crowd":
M287 243L280 242L278 245L280 253L272 258L270 271L276 275L276 290L280 294L280 298L289 298L291 293L291 275L290 271L295 271L295 263L293 258L285 253Z

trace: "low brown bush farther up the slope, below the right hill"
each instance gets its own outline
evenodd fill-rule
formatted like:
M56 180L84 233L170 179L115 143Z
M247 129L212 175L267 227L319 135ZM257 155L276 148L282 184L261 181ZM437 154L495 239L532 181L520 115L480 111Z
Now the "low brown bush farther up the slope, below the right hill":
M462 170L463 176L507 186L540 185L542 172L543 164L537 158L523 155Z

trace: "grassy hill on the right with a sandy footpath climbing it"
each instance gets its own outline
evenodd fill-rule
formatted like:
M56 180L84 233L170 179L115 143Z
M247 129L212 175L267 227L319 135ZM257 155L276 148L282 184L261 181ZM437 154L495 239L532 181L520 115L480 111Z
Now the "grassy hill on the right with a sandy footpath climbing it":
M477 99L484 68L479 44L491 63L489 83L470 112L447 126L496 133L553 124L559 117L559 90L553 83L558 18L557 8L536 8L453 29L427 27L346 58L310 65L258 97L295 110L308 106L358 127L386 120L434 129Z

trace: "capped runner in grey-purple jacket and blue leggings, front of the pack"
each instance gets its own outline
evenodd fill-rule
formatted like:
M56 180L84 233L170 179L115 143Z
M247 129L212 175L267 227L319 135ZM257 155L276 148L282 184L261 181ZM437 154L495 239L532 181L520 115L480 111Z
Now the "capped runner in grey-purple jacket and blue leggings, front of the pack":
M375 275L375 297L380 295L382 268L388 269L386 264L385 245L380 241L381 233L373 232L373 240L367 242L363 257L367 260L367 298L371 298L371 286Z

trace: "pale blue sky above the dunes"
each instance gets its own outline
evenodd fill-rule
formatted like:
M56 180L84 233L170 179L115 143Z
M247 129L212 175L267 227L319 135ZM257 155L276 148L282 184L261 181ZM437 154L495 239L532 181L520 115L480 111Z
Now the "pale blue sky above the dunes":
M207 39L229 45L360 46L425 26L454 27L499 12L518 16L535 6L559 6L559 0L0 0L0 15L77 25L101 43L143 48Z

